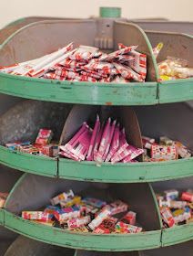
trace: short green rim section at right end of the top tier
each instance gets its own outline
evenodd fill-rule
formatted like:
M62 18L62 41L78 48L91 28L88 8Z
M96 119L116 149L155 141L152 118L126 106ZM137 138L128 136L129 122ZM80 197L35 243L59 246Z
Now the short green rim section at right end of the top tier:
M193 100L193 79L168 80L158 83L159 103Z

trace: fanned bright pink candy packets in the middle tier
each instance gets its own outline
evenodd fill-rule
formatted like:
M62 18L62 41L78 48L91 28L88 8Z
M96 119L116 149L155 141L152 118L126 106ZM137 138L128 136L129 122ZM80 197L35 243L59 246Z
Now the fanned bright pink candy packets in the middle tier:
M96 117L94 129L83 123L79 131L65 145L60 146L59 155L75 161L111 162L112 164L136 162L144 150L127 143L125 129L120 129L117 121L108 118L101 125Z

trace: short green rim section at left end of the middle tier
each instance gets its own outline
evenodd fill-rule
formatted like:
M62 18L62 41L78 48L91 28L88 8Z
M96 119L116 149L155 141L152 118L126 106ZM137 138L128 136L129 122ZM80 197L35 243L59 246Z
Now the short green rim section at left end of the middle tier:
M26 173L52 177L57 175L56 159L19 153L4 146L0 146L0 163Z

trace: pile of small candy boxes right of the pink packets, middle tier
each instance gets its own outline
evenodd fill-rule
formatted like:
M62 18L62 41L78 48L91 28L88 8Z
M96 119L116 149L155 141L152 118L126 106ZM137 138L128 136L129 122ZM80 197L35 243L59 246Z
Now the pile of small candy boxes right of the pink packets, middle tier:
M159 162L168 160L177 160L179 158L191 157L191 151L180 142L173 141L166 136L159 138L159 143L156 140L146 136L142 137L144 147L144 161Z

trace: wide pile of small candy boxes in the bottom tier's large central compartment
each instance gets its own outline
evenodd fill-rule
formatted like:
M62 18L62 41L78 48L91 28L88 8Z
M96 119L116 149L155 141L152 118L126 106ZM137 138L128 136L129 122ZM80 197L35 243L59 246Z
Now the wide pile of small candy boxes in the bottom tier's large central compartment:
M75 232L109 234L142 231L135 226L137 214L127 211L127 204L120 200L107 204L94 197L75 196L69 190L53 197L51 204L44 211L23 211L22 218Z

